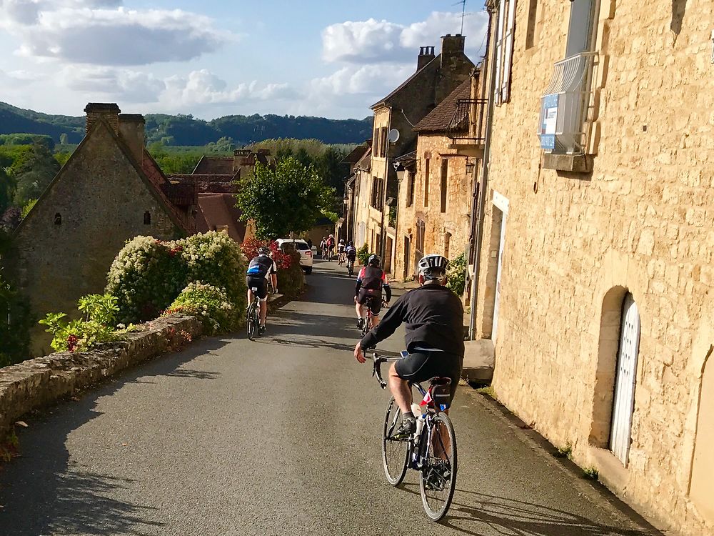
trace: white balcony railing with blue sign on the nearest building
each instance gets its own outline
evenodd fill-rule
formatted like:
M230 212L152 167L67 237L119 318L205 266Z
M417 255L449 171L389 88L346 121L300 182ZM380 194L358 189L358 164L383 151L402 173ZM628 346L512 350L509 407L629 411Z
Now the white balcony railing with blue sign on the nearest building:
M553 65L553 78L540 100L538 137L545 152L583 154L597 52L581 52Z

